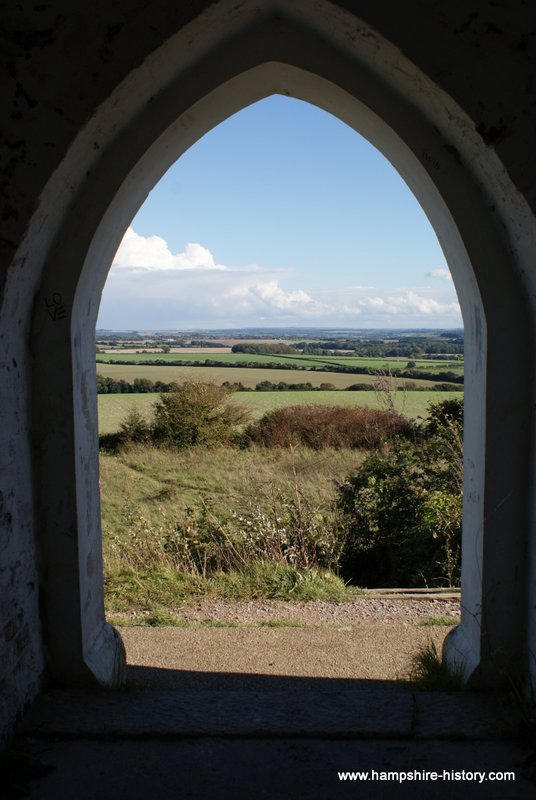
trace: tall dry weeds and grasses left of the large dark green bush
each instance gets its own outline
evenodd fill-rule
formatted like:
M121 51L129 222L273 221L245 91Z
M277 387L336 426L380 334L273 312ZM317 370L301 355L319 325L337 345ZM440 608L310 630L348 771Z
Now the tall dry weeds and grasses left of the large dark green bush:
M103 526L108 567L167 568L206 578L255 563L294 570L335 569L343 546L337 517L299 496L278 497L272 509L251 507L216 515L201 503L149 518L124 512L123 532Z

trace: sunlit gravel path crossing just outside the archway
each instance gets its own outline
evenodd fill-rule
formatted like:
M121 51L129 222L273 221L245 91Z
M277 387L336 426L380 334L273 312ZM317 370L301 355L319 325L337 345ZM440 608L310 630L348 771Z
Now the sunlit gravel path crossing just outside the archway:
M131 621L120 632L130 676L144 687L225 688L268 676L405 681L415 655L430 643L441 652L452 629L430 621L454 625L458 614L454 600L201 600L177 609L178 627Z

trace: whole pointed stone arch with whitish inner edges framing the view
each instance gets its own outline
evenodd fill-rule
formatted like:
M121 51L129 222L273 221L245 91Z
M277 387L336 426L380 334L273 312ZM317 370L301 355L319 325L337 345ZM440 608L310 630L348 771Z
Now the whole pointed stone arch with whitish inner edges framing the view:
M328 2L243 6L210 7L130 73L80 131L26 237L46 255L29 336L50 672L111 684L121 671L103 615L93 340L115 249L187 147L248 103L283 93L382 150L445 250L468 343L464 612L447 657L481 685L506 672L535 680L526 634L534 310L523 271L534 220L474 121L365 23ZM527 368L511 376L507 396L512 352Z

